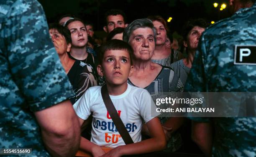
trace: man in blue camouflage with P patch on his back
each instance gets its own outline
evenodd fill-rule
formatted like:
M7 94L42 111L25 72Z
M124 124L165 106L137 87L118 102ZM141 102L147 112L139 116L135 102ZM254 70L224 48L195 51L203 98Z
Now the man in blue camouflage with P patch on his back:
M187 79L186 91L256 92L254 2L229 0L234 15L205 30ZM214 157L256 157L256 117L192 120L192 138L207 156L212 151ZM212 126L207 123L210 121ZM213 140L211 127L215 129Z

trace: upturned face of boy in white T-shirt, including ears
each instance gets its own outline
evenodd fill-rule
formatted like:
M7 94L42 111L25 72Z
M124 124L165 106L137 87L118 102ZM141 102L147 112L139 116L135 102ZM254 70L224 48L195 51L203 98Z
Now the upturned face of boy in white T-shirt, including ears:
M127 50L108 50L105 52L102 65L97 66L100 76L105 76L109 85L125 85L131 76L133 66Z

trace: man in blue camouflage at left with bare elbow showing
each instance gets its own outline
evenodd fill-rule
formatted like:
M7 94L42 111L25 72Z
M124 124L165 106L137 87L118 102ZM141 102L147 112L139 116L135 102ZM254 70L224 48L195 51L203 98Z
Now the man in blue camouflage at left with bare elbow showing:
M0 0L0 78L0 148L74 156L80 128L67 100L74 92L36 0Z

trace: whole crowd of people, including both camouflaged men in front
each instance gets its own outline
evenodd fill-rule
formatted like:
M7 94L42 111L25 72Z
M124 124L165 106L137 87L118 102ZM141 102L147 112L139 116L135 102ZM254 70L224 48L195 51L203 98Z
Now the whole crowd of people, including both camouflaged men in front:
M211 26L188 20L179 47L159 15L127 23L122 10L109 10L104 41L86 19L69 14L47 24L35 0L0 2L0 147L32 148L36 157L78 149L93 157L255 157L255 115L161 116L154 103L168 92L255 92L256 60L234 59L256 53L254 3L229 0L233 16Z

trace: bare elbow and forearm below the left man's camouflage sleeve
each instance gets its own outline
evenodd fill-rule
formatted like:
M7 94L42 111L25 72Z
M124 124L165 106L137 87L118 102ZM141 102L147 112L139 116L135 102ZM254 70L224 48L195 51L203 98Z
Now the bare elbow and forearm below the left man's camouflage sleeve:
M35 112L46 149L53 157L74 156L80 143L80 125L69 100Z

